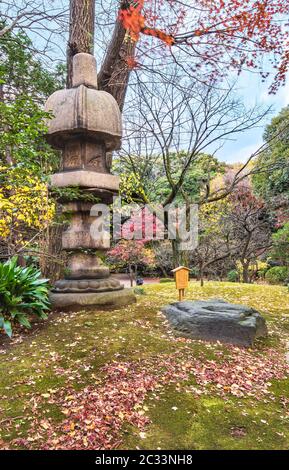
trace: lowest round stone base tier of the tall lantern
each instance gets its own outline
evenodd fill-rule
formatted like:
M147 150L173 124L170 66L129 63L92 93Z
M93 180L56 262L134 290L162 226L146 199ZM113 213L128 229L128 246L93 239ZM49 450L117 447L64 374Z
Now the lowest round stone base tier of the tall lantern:
M50 301L54 310L77 312L81 310L116 309L136 302L131 289L96 293L55 293Z

